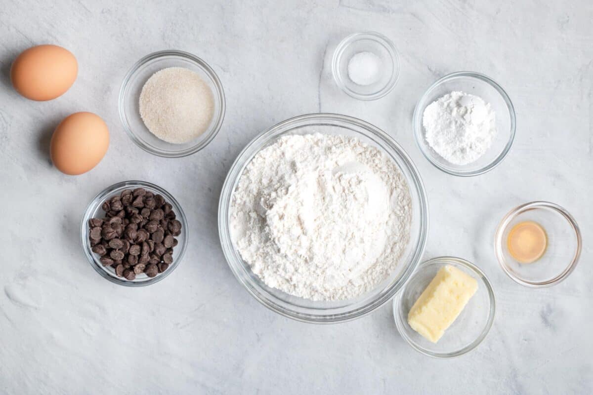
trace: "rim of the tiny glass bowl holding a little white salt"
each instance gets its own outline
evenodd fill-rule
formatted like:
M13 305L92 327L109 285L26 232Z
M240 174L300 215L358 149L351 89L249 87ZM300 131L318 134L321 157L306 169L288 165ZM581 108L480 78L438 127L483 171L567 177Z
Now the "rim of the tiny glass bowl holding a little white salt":
M377 41L377 43L380 43L382 46L385 47L385 49L387 49L387 52L390 54L391 57L391 62L393 62L393 73L391 73L391 77L387 84L385 84L385 86L381 88L379 91L368 95L359 94L358 92L349 89L344 83L344 79L339 68L340 59L342 59L342 54L344 53L344 50L350 44L354 43L356 40L359 40L360 38L368 38L369 40L374 40ZM361 31L359 33L350 34L342 41L340 41L340 43L334 50L333 56L331 57L331 75L333 75L333 79L334 82L336 82L336 85L339 86L339 88L342 89L342 91L350 97L365 101L380 99L387 95L389 92L393 91L393 88L396 87L397 81L399 81L400 78L400 68L400 56L397 52L395 44L393 43L393 41L390 40L390 38L384 36L381 33L377 33L376 31Z

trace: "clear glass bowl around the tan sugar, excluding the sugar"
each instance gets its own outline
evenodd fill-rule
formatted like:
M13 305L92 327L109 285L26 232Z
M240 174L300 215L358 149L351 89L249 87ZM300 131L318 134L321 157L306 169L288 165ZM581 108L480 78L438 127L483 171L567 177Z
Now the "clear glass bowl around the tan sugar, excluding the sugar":
M140 117L142 87L158 70L170 67L183 67L198 73L212 89L214 98L214 113L208 129L196 139L183 144L159 139L146 128ZM221 129L224 114L225 97L218 76L206 62L187 52L166 50L146 55L127 72L119 91L119 116L130 139L145 151L165 158L191 155L208 145Z

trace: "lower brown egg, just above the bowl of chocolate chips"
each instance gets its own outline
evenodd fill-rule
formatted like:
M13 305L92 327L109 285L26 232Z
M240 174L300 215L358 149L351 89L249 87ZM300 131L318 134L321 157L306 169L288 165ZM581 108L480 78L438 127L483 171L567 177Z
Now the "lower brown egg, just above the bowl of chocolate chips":
M93 113L74 113L53 132L50 156L59 171L69 175L88 172L97 166L109 147L109 129Z

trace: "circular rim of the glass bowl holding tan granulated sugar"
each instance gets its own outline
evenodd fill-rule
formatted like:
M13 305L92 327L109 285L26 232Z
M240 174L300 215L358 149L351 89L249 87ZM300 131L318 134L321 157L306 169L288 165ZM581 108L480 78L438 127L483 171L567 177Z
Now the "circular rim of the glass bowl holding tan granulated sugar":
M213 96L214 96L215 101L217 101L218 105L219 105L219 111L218 111L218 113L214 114L214 117L212 118L212 121L211 121L211 123L213 123L213 126L212 126L212 131L210 132L209 136L205 140L202 140L201 142L199 142L198 144L195 144L195 145L193 145L189 148L183 149L183 150L173 151L173 152L162 151L160 149L155 149L155 148L146 146L146 144L144 144L141 140L139 140L138 137L136 137L136 134L132 131L132 128L130 127L130 125L127 121L127 116L126 116L127 113L126 113L126 108L125 108L126 106L124 103L127 88L129 86L130 79L132 79L132 76L134 76L136 74L136 72L138 72L138 70L142 66L144 66L146 63L148 63L152 60L155 60L155 59L160 59L161 57L166 57L166 56L176 56L176 57L184 58L184 59L189 60L190 62L194 63L200 69L202 69L203 72L205 72L213 81L213 85L215 86L215 89L214 89L215 92L213 92ZM224 117L225 117L225 113L226 113L226 98L225 98L225 94L224 94L224 89L222 88L222 83L221 83L220 79L218 78L218 75L211 68L211 66L208 65L208 63L206 63L200 57L197 57L192 53L170 49L170 50L162 50L162 51L149 53L148 55L146 55L146 56L142 57L140 60L138 60L138 62L134 63L132 68L130 68L128 70L125 77L123 78L122 85L120 86L120 89L119 89L119 96L117 98L117 106L118 106L118 110L119 110L119 118L120 118L120 121L122 122L123 129L126 131L127 136L130 137L130 139L137 146L141 147L143 150L151 153L152 155L161 156L162 158L183 158L184 156L189 156L189 155L192 155L193 153L198 152L199 150L202 150L204 147L206 147L209 143L212 142L214 137L216 137L216 135L218 134L218 132L220 131L220 129L222 127L222 122L224 121ZM148 132L148 133L150 133L150 132Z

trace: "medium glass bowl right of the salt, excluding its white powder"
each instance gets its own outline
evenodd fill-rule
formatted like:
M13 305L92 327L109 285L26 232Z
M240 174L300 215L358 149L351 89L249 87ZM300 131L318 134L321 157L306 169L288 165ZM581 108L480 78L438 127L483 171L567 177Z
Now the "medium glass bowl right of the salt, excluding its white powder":
M467 165L454 165L436 153L426 142L422 125L425 108L452 91L463 91L479 96L490 103L496 113L498 133L492 145L482 157ZM515 139L515 108L511 99L493 79L476 72L452 73L432 84L416 105L412 123L416 143L426 159L445 173L457 176L474 176L492 170L505 158Z

